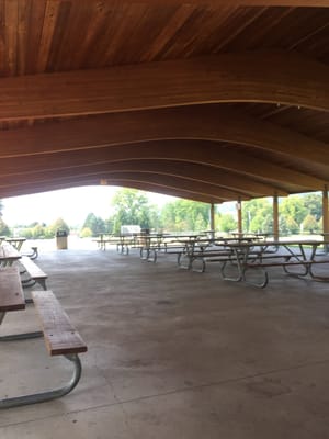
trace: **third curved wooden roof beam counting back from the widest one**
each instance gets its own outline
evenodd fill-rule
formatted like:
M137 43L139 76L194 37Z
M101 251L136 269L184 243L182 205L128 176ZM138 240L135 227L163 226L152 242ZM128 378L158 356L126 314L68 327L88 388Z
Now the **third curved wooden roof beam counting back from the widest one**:
M169 159L202 164L263 179L268 184L294 184L321 190L324 180L294 171L273 162L242 153L240 149L207 140L159 140L140 144L114 145L93 149L77 149L57 154L8 157L1 159L1 177L19 178L34 171L70 169L131 159ZM257 172L257 175L256 175Z

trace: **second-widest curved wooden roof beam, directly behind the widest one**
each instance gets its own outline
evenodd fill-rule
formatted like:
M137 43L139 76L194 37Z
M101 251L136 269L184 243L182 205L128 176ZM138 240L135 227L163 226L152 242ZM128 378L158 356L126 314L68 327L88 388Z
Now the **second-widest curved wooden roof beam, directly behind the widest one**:
M328 81L329 82L329 81ZM0 132L0 157L161 139L207 139L329 165L328 145L222 106L104 114Z

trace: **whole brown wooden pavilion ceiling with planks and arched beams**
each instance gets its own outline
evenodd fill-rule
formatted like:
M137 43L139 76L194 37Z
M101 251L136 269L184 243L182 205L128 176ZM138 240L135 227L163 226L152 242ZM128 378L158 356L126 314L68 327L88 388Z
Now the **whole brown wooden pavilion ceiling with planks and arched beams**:
M0 198L329 181L329 0L0 0Z

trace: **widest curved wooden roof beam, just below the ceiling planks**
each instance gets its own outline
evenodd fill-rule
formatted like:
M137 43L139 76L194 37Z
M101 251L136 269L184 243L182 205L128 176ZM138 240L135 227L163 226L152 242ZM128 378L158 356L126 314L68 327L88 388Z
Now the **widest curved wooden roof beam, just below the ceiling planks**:
M0 121L218 102L329 111L329 67L297 53L247 52L0 79Z

